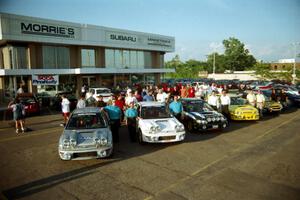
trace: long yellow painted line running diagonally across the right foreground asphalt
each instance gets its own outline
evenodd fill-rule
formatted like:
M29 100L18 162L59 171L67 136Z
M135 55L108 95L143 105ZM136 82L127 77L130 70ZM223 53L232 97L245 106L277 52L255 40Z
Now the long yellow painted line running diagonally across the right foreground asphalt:
M300 116L300 115L297 114L297 115L293 116L292 118L290 118L290 119L288 119L288 120L286 120L286 121L284 121L284 122L278 124L277 126L275 126L275 127L271 128L270 130L266 131L264 134L262 134L262 135L260 135L260 136L257 136L257 137L256 137L255 139L253 139L250 143L256 142L257 140L259 140L259 139L261 139L261 138L267 136L268 134L272 133L273 131L276 131L276 130L277 130L278 128L280 128L281 126L284 126L284 125L286 125L286 124L292 122L293 120L295 120L295 119L298 118L299 116ZM165 188L162 188L160 191L156 192L155 194L146 197L144 200L154 199L158 194L163 193L163 192L166 192L166 191L168 191L169 189L176 187L177 185L183 183L184 181L187 181L187 180L189 180L189 179L195 177L195 176L196 176L197 174L199 174L200 172L205 171L205 170L208 169L209 167L211 167L211 166L213 166L213 165L215 165L215 164L217 164L217 163L219 163L219 162L222 162L223 160L227 159L228 157L233 156L233 154L236 154L237 152L241 152L242 150L244 150L244 149L246 149L246 148L248 148L248 145L246 145L246 147L245 147L245 146L241 146L241 147L239 147L239 148L237 148L237 149L234 149L230 154L224 155L224 156L222 156L221 158L219 158L219 159L217 159L217 160L215 160L215 161L213 161L213 162L211 162L211 163L209 163L209 164L207 164L207 165L201 167L200 169L196 170L196 171L193 172L192 174L190 174L190 175L188 175L188 176L186 176L186 177L183 177L182 179L180 179L180 180L174 182L173 184L168 185L168 186L165 187Z

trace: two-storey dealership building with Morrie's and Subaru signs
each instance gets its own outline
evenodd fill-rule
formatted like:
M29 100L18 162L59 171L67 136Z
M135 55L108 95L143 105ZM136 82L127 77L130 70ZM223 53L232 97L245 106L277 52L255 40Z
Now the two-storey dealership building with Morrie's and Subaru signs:
M175 38L88 24L0 14L0 98L45 87L74 90L156 82L173 69ZM3 100L3 99L2 99Z

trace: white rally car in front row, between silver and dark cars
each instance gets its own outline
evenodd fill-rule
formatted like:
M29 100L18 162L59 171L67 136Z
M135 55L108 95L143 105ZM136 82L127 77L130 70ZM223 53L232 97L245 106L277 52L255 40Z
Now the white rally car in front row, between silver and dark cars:
M140 102L137 123L140 143L178 142L185 138L182 123L173 117L162 102Z

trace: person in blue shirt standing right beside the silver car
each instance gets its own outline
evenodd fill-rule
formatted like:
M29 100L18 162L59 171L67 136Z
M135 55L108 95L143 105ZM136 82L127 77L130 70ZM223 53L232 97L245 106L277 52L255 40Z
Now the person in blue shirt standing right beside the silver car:
M117 143L119 142L119 128L121 125L122 112L115 103L115 100L112 100L112 105L105 106L103 110L108 114L113 141Z

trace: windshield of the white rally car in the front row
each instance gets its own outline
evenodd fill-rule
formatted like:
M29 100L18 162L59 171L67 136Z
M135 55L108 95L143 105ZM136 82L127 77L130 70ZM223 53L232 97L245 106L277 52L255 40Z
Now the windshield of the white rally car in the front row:
M141 108L141 118L143 119L160 119L169 118L170 114L165 106L145 106Z

